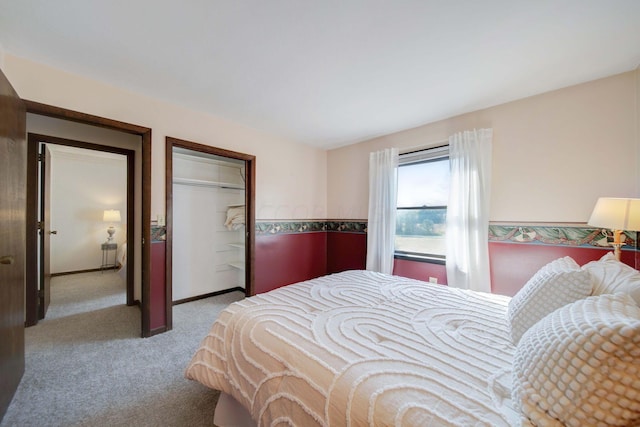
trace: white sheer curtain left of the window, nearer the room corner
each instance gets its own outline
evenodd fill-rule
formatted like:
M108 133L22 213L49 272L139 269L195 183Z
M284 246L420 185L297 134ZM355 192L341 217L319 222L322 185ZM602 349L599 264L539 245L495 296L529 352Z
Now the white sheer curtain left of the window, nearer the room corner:
M397 177L397 148L387 148L369 155L367 270L387 274L393 272Z

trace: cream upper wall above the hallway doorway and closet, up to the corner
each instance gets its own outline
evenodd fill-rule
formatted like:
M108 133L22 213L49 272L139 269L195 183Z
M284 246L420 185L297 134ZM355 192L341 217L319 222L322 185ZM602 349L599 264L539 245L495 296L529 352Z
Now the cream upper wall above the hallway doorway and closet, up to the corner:
M165 214L166 136L255 155L257 219L326 217L324 150L11 54L3 71L24 99L151 128L152 218Z

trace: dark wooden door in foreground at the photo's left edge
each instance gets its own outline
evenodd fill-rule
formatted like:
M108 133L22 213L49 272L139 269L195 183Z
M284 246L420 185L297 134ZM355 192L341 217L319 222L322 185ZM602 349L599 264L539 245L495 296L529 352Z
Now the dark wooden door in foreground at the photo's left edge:
M25 106L0 71L0 420L24 373Z

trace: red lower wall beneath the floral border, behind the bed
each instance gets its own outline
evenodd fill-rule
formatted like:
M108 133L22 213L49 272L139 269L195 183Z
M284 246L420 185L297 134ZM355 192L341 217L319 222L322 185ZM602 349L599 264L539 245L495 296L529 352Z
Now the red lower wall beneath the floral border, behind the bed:
M554 259L570 256L584 265L609 251L588 246L490 241L492 292L513 296L536 271ZM366 253L365 233L328 231L257 235L256 293L324 274L364 269ZM623 250L622 261L639 268L640 251ZM396 259L393 274L424 281L435 277L438 283L447 284L446 267L441 264Z

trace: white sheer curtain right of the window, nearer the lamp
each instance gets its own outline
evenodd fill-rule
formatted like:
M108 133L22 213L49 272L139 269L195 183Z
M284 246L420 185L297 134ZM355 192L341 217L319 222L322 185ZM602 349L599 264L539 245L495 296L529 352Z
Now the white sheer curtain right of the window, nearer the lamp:
M492 129L449 138L451 184L447 206L447 283L491 292L489 200Z

